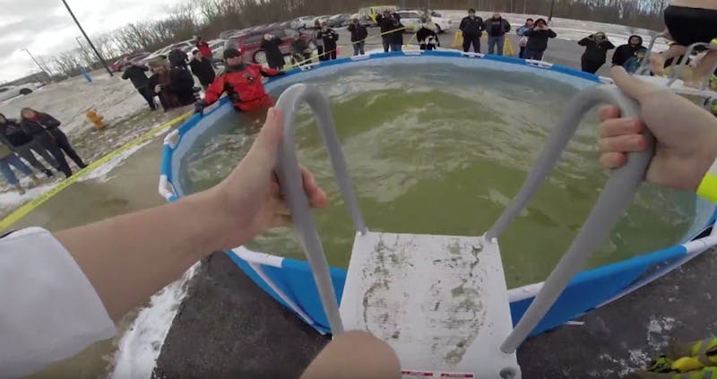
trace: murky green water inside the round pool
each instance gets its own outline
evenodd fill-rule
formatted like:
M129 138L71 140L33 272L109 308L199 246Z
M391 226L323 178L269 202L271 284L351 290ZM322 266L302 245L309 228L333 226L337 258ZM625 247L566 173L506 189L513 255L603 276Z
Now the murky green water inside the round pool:
M331 103L368 228L479 235L523 183L549 130L576 90L528 73L453 66L352 69L309 82ZM275 93L278 95L278 93ZM254 116L256 117L256 116ZM254 141L262 121L232 114L186 156L188 192L215 185ZM581 127L527 211L501 237L511 287L545 279L581 226L605 182L598 165L597 119ZM314 118L299 116L298 156L331 197L315 220L329 262L346 267L354 232ZM644 186L590 263L599 266L678 241L694 196ZM303 258L282 229L248 247Z

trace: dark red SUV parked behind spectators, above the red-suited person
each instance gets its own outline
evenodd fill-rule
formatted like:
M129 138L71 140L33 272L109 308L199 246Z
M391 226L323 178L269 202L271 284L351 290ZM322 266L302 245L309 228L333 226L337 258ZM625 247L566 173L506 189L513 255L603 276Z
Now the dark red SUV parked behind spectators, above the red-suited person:
M269 33L281 39L281 53L284 56L291 54L291 39L295 34L299 34L301 39L307 41L307 44L311 43L311 36L305 33L300 33L297 30L289 28L255 28L249 32L238 34L229 37L227 42L224 44L224 49L227 48L242 48L244 53L245 62L253 62L259 65L266 63L266 54L262 49L263 35ZM310 46L310 45L309 45Z

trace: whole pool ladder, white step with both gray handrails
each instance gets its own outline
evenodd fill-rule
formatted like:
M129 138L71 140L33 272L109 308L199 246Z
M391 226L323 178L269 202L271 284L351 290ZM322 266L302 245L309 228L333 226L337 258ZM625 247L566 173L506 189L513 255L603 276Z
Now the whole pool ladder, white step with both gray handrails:
M341 196L349 208L351 220L357 231L346 286L341 300L341 309L333 292L329 266L303 189L303 180L296 156L295 116L298 108L304 103L307 103L315 113L319 130L333 164L334 175L341 190ZM462 311L455 310L458 308L450 308L444 309L444 313L430 314L430 310L426 310L424 304L428 300L434 300L428 298L430 297L429 295L411 292L413 286L408 289L395 289L395 286L390 287L389 284L393 283L393 281L402 283L401 280L406 280L403 283L416 283L416 287L419 288L420 280L436 280L436 278L429 277L430 273L445 275L445 270L447 270L445 267L435 267L442 263L430 265L421 260L436 258L433 261L436 262L444 257L458 259L456 256L462 257L461 259L465 257L468 257L465 259L469 259L471 254L475 256L482 254L479 260L481 261L479 264L482 265L479 266L481 271L471 271L470 276L472 278L474 272L479 272L480 279L485 279L489 283L479 284L477 281L466 282L465 280L462 283L473 283L478 287L483 286L478 289L482 293L473 300L483 302L481 304L488 305L487 307L490 309L484 310L484 313L478 316L485 320L473 320L481 323L468 323L473 326L482 325L480 326L482 330L474 334L474 336L477 336L476 340L479 340L479 343L472 343L476 340L471 340L472 345L468 347L461 347L461 344L458 343L461 349L450 351L450 353L455 351L461 353L461 357L458 357L457 361L454 359L454 355L449 355L448 353L445 356L441 356L447 351L438 349L441 347L436 348L434 346L431 350L433 353L424 351L429 350L428 348L422 350L420 347L415 347L414 345L417 345L417 341L421 338L420 335L404 338L401 333L394 333L393 335L389 333L379 337L384 338L396 349L401 358L402 366L406 369L418 369L418 372L421 370L436 370L436 373L447 371L467 372L471 375L476 375L475 377L520 377L520 367L517 366L515 359L516 349L523 343L523 340L527 338L535 326L540 323L543 316L548 313L557 297L566 289L568 281L583 269L592 252L609 237L609 232L620 218L627 204L631 202L639 185L643 182L646 169L650 159L652 159L654 143L652 142L652 136L646 135L651 142L651 147L648 151L630 154L627 158L626 166L611 173L607 184L600 193L599 199L587 220L585 220L583 227L568 247L566 254L557 263L557 267L549 275L548 280L545 281L543 288L540 289L523 318L513 328L512 323L510 323L505 276L497 246L498 237L524 209L531 196L535 194L549 175L550 170L555 167L557 160L566 149L567 143L583 117L596 105L602 103L618 106L623 116L640 116L640 108L635 100L627 98L617 87L602 85L583 90L567 106L566 115L549 135L546 147L529 172L519 193L515 195L513 201L485 235L480 237L419 236L374 233L367 230L358 209L358 201L351 185L327 100L315 86L308 84L296 84L285 90L277 104L277 107L283 111L284 117L284 134L278 152L277 175L281 183L282 192L287 199L291 217L295 227L298 229L298 235L301 238L304 251L313 271L324 312L329 320L333 334L341 334L347 325L351 329L367 329L369 332L379 334L393 330L387 328L400 329L402 326L408 327L414 333L429 333L430 331L427 329L434 324L430 324L426 320L431 317L441 316L451 318L453 317L451 312L461 313ZM391 254L398 256L398 258L395 258L398 262L401 262L401 259L412 259L414 262L411 262L410 267L415 266L417 268L410 269L408 265L404 264L402 266L396 265L396 268L392 269L393 266L381 261L379 255L385 253L387 244L393 244L389 247L393 248L393 253ZM410 251L410 254L407 254L407 251ZM357 257L356 259L354 259L355 256ZM483 263L482 261L487 262ZM470 264L471 270L474 264ZM380 271L386 273L383 277L380 274L370 272L369 269L376 265L380 265ZM458 265L461 266L461 264ZM424 267L424 269L419 267ZM466 271L461 271L461 268L455 270L457 276L463 276L464 279L468 278L468 269ZM376 271L379 270L376 269ZM376 279L376 276L381 278ZM393 281L385 284L387 283L386 280ZM379 285L376 287L376 282L384 283L384 286ZM441 283L441 280L437 279L435 282ZM470 286L468 287L471 291L473 290ZM377 292L380 293L376 295ZM436 297L438 299L447 298L445 290L436 289L436 293L438 294ZM375 300L375 297L380 297L380 301L372 303L371 300ZM459 300L465 302L463 297L459 297ZM393 307L386 306L386 304L393 305ZM379 318L379 321L374 322L367 320L367 314L372 313L372 305L385 306L387 308L385 317L382 315L383 318ZM451 311L451 309L454 309L454 311ZM361 312L363 312L363 318L360 317ZM389 314L390 312L398 314L394 316ZM402 312L407 314L402 314ZM417 332L413 330L416 328L411 329L411 325L392 324L392 322L401 320L403 322L410 320L410 323L428 323L428 328L424 325L424 329L418 328ZM462 320L461 323L463 321L465 320ZM483 321L486 321L486 323L482 323ZM438 324L442 323L435 323L435 325ZM450 323L446 322L446 324ZM490 326L486 326L487 324ZM479 326L475 327L478 328ZM471 331L459 332L466 333ZM400 337L396 337L396 334L399 334ZM450 333L446 332L446 334ZM435 336L432 338L436 339ZM403 343L401 339L408 340L408 342ZM450 340L449 342L453 343L453 341ZM488 347L481 348L475 345L486 345ZM428 357L427 354L437 354L438 357L434 359ZM474 361L474 363L471 363L471 361Z

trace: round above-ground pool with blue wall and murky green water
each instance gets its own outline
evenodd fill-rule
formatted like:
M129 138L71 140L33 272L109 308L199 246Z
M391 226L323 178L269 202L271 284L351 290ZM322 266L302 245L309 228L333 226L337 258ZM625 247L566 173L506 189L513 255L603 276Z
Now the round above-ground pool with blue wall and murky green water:
M315 84L331 102L358 203L372 230L472 236L504 211L566 103L600 79L507 57L391 53L294 70L266 88L278 98L297 82ZM217 184L246 154L263 116L239 114L225 99L187 121L168 136L162 194L174 201ZM314 123L308 109L299 114L298 159L331 198L315 220L336 267L333 282L341 298L354 231ZM555 267L608 177L598 163L596 125L592 116L579 129L556 170L501 237L505 277L514 288L514 323L540 287L531 283ZM696 237L709 227L713 211L694 194L644 185L592 255L593 270L573 280L536 332L638 287L659 267L678 264L686 256L679 247L645 252ZM291 229L258 237L229 254L272 297L327 332L311 271Z

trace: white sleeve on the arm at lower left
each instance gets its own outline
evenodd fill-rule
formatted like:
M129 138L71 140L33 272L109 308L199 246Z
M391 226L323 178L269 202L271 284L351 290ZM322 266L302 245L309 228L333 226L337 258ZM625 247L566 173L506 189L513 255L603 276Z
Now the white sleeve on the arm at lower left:
M0 238L0 376L19 377L115 334L65 246L43 228Z

